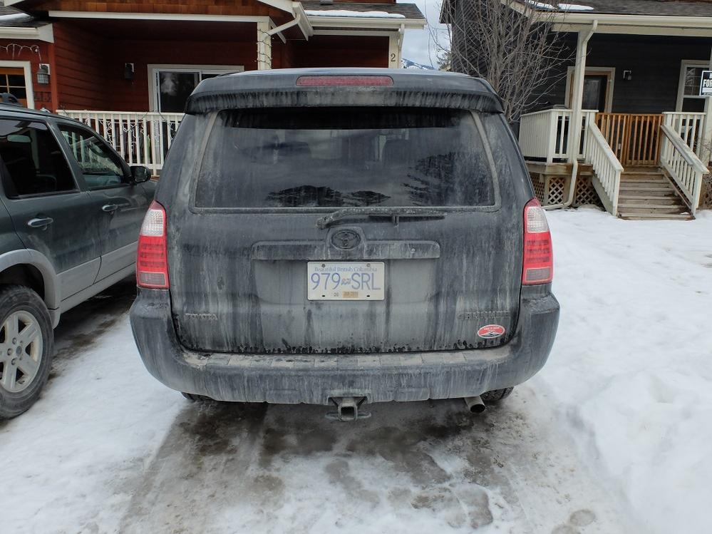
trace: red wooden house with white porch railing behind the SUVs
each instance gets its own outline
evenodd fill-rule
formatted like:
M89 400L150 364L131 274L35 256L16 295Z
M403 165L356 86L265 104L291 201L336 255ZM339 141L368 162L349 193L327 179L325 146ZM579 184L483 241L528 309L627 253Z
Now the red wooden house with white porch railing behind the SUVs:
M291 0L5 0L0 92L85 120L160 170L203 78L290 67L398 67L414 4Z

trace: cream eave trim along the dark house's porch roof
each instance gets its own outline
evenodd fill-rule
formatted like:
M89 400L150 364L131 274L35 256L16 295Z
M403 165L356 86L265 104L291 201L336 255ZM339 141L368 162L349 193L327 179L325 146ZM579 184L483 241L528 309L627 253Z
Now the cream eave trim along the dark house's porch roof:
M535 11L532 6L521 1L512 4L512 8L522 14L531 14ZM551 17L555 31L587 31L593 22L597 21L597 34L712 36L712 17L603 14L595 11L537 11Z

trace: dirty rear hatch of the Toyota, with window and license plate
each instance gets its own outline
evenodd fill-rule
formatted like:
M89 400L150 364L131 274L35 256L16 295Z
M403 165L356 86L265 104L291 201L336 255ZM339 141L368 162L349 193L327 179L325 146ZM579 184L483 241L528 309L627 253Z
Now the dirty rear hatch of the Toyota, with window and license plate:
M477 113L273 108L212 120L190 215L169 240L185 346L371 353L510 338L521 214L502 202Z

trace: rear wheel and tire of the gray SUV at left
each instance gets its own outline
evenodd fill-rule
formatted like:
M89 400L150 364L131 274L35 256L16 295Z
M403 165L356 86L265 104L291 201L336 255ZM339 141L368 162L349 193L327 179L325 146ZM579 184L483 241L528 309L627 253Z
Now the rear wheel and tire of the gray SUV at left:
M53 354L54 332L39 295L25 286L0 286L0 419L35 403Z

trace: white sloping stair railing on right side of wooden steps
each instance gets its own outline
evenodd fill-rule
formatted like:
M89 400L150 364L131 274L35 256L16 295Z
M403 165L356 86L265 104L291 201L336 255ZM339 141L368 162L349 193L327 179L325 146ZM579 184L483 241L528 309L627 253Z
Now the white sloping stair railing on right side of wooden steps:
M709 170L669 125L662 125L660 130L663 133L660 164L678 185L694 216L700 203L702 177Z

